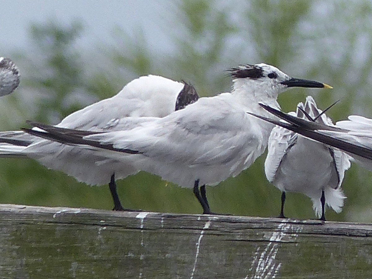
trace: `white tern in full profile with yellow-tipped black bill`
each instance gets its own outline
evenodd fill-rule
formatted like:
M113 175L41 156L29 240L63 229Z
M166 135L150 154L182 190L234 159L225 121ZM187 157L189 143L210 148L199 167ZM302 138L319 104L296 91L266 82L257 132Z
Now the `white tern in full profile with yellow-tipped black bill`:
M217 185L247 169L266 149L273 128L246 112L268 115L258 103L279 108L276 98L289 87L330 88L317 81L291 78L266 64L241 65L230 71L231 93L200 98L183 110L130 131L94 134L35 124L42 130L27 132L97 150L102 157L118 161L126 157L123 153L133 154L130 157L137 169L181 187L193 187L203 213L213 214L205 185ZM39 147L31 145L26 152L33 150L37 152Z

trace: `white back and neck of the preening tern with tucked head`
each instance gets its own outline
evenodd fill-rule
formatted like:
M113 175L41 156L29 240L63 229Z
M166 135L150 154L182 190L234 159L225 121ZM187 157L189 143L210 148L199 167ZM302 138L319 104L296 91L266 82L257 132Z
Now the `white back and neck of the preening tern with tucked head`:
M177 95L184 84L160 76L132 80L115 96L78 110L58 126L102 131L110 122L128 116L164 117L174 111ZM111 125L112 127L112 125Z

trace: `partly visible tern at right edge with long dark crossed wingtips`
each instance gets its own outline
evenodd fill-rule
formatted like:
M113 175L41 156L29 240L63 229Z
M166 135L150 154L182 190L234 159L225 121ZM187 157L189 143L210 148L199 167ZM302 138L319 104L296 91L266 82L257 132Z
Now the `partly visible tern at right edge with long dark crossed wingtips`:
M335 126L328 126L305 121L270 106L261 106L287 122L265 118L260 115L256 115L257 117L312 140L338 148L349 154L353 161L372 171L372 119L350 115L349 120L336 122Z

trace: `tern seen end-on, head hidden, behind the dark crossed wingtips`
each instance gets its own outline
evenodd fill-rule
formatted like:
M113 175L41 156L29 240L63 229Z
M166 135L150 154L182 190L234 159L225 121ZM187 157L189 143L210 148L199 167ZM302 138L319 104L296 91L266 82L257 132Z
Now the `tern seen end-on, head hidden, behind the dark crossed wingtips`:
M317 108L311 96L306 98L305 105L302 102L298 104L296 113L289 114L333 125L331 119ZM350 167L349 159L350 156L342 151L275 126L269 137L265 173L269 182L282 192L279 217L285 218L283 209L286 192L307 195L320 220L325 221L325 204L337 213L341 212L346 198L341 183L345 170Z

